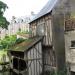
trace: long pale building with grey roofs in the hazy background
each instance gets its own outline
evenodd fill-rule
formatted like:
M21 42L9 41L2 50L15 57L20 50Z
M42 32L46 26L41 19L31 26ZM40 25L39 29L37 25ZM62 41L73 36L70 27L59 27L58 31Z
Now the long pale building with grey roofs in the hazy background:
M11 23L8 26L8 30L0 28L0 38L3 39L6 35L14 35L17 34L19 31L29 32L29 24L30 17L21 17L21 18L15 18L13 16Z

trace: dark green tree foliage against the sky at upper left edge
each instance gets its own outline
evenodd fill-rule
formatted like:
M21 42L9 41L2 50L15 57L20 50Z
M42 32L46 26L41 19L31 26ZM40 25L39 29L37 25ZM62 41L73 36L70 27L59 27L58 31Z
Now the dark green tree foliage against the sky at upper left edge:
M3 16L5 10L8 8L7 4L0 1L0 27L7 29L9 22L7 19Z

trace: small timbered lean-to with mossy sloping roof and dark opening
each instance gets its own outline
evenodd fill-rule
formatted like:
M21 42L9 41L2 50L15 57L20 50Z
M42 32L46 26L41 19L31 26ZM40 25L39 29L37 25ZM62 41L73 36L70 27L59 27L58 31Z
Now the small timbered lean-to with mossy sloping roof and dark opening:
M11 75L40 75L42 73L42 39L43 37L34 37L9 50Z

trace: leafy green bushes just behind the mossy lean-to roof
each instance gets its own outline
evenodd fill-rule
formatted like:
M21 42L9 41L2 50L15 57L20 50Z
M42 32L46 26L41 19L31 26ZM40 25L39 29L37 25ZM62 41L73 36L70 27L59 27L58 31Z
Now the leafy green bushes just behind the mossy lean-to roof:
M23 42L24 39L16 37L16 35L6 36L4 39L0 40L0 50L7 50L15 44Z

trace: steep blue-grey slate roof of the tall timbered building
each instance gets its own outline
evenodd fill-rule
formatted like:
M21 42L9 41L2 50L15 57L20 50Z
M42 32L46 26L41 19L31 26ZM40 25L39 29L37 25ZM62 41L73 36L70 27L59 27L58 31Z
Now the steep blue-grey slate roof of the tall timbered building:
M30 23L48 13L50 13L57 1L58 0L49 0L47 2L47 4L43 7L43 9L30 21Z

